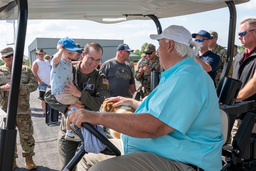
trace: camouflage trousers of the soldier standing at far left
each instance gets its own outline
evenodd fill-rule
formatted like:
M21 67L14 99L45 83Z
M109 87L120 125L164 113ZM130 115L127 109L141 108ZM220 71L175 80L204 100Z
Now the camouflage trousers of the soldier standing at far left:
M19 141L22 147L22 156L23 157L31 157L34 156L34 148L35 148L35 139L33 137L34 127L33 122L31 120L31 115L20 115L17 114L16 117L16 126L19 131ZM15 146L15 154L14 158L18 158L17 154L17 142Z

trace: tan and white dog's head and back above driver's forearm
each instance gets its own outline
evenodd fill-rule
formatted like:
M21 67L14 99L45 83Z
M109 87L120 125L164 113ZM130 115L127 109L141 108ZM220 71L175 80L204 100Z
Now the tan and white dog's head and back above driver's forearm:
M114 112L114 113L134 113L135 111L131 109L128 106L117 106L114 107L113 104L117 103L116 101L114 102L109 102L106 103L106 101L103 102L103 104L100 107L100 112L106 113L106 112Z

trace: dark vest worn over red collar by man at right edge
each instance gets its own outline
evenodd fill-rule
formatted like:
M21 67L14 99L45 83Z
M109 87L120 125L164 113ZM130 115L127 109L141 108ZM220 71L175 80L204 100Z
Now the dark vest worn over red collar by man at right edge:
M242 87L253 77L256 66L256 50L252 53L251 56L246 58L244 61L244 51L237 54L233 61L233 76L232 78L242 81ZM256 93L243 101L255 100ZM256 109L249 111L251 113L256 113ZM243 119L246 113L240 114L237 118Z

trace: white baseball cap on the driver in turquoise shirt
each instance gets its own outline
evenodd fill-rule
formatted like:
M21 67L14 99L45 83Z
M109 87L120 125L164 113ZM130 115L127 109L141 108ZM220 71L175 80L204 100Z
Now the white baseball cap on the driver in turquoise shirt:
M171 25L164 29L161 34L151 34L149 37L153 40L158 41L160 39L166 38L187 45L191 48L194 47L193 45L188 43L190 40L192 40L191 33L183 26Z

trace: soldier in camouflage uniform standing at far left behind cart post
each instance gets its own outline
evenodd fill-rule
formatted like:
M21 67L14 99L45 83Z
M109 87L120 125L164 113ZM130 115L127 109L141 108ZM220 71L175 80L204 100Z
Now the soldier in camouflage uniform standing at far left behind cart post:
M7 112L14 51L12 47L7 46L1 49L0 52L2 54L2 59L5 61L5 64L0 66L0 107ZM25 166L28 170L36 169L36 165L32 159L32 156L35 155L35 139L33 137L34 128L31 120L29 94L34 92L37 89L37 86L38 81L34 73L28 66L23 65L20 80L16 126L19 131L20 144L23 149L22 156L25 157ZM13 169L17 167L16 158L18 158L17 143L15 147Z

